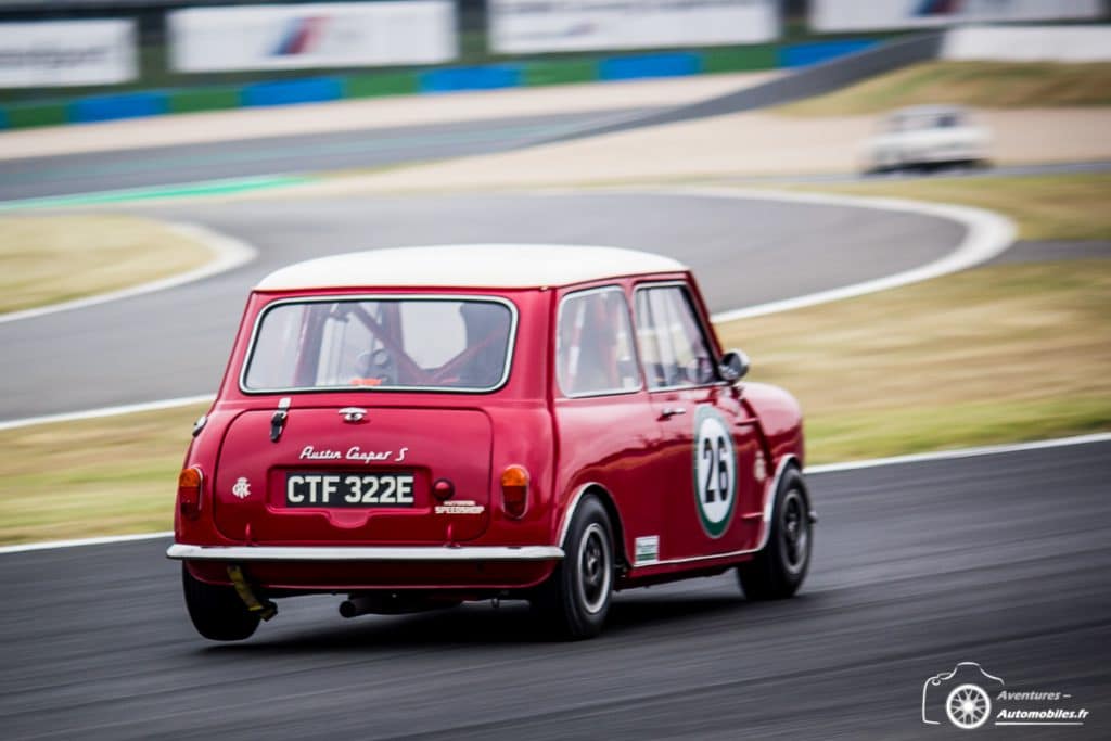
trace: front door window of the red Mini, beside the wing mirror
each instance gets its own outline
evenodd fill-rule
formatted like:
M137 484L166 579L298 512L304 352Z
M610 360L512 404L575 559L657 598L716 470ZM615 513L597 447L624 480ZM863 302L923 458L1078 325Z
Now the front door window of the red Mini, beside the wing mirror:
M637 290L637 339L650 389L717 380L713 353L681 286Z

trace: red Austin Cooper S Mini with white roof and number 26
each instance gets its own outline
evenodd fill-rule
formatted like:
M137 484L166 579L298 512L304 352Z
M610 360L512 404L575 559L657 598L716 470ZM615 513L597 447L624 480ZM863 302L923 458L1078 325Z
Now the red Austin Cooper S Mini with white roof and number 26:
M789 597L812 548L799 407L741 384L690 271L611 248L323 258L251 293L178 479L186 604L240 640L273 600L344 617L522 599L597 634L614 590L737 569Z

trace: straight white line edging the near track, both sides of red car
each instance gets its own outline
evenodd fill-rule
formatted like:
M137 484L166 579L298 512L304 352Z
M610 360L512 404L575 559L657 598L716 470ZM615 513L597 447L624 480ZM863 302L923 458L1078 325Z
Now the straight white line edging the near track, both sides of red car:
M1048 448L1064 448L1069 445L1087 445L1100 442L1111 442L1111 432L1098 432L1094 434L1083 434L1073 438L1059 438L1057 440L1040 440L1038 442L1020 442L1009 445L985 445L982 448L943 450L935 453L894 455L892 458L874 458L871 460L850 461L847 463L808 465L807 475L835 473L839 471L857 471L862 469L880 468L883 465L903 465L907 463L923 463L930 461L979 458L982 455L1020 453L1028 450L1044 450ZM47 541L40 543L24 543L20 545L3 545L0 547L0 555L3 555L4 553L24 553L27 551L44 551L44 550L61 549L61 548L78 548L81 545L106 545L111 543L126 543L137 540L156 540L159 538L171 538L172 535L173 535L172 531L144 532L134 535L106 535L103 538L86 538L82 540L56 540L56 541Z

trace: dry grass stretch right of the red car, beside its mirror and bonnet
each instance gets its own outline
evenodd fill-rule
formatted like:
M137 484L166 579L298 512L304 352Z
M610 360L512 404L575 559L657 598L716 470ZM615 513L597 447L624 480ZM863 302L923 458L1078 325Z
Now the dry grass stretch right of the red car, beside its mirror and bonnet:
M981 268L719 328L811 462L1111 428L1111 261Z

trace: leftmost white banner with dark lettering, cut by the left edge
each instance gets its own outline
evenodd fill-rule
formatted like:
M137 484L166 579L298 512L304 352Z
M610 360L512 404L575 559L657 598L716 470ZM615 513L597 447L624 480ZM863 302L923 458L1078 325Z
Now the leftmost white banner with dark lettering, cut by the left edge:
M134 77L132 21L0 23L0 88L118 84Z

